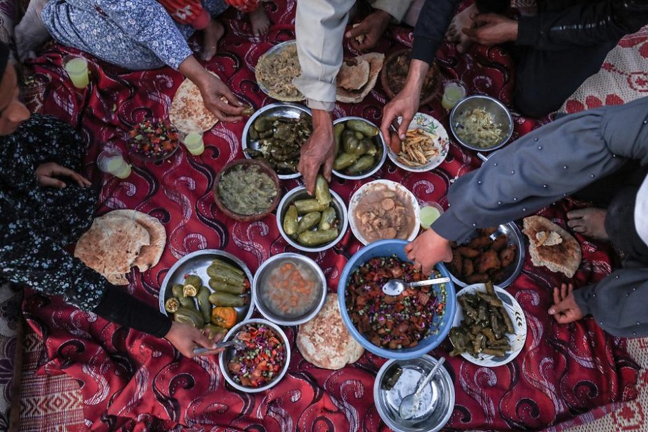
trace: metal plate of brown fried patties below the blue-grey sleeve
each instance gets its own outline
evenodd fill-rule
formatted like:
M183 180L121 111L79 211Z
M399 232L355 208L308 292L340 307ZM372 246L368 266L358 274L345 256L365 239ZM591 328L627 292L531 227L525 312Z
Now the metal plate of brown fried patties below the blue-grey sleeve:
M479 228L467 242L452 242L451 247L452 261L446 266L458 286L488 281L509 286L524 264L524 239L514 222Z

